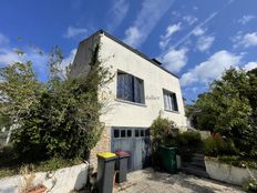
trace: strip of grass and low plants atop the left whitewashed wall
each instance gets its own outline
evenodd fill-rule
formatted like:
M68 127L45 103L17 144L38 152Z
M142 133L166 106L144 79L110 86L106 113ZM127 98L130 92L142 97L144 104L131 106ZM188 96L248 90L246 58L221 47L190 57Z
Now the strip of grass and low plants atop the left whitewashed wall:
M19 160L18 155L12 150L12 146L8 145L0 148L0 177L21 174L24 167L28 167L31 172L47 172L80 163L83 163L83 160L79 158L69 160L51 158L49 160L28 163Z

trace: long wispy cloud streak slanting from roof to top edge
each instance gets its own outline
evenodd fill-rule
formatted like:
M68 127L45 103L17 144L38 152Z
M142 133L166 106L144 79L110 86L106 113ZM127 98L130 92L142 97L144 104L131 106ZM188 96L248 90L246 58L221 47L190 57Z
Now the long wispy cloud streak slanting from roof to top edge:
M173 2L174 0L143 0L135 21L125 30L124 41L132 47L140 47Z

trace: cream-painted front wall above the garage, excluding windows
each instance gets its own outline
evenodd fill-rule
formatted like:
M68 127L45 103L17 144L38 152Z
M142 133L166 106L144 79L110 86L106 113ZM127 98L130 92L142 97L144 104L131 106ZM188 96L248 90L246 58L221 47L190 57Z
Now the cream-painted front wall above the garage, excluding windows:
M164 118L173 120L177 125L186 126L183 98L177 78L104 34L101 34L100 44L100 57L104 60L104 67L109 67L113 74L121 70L144 80L145 93L145 104L121 102L116 99L115 75L105 88L101 88L101 93L105 98L107 95L109 100L109 105L101 116L101 121L105 125L148 128L161 112ZM164 110L163 89L176 93L178 112Z

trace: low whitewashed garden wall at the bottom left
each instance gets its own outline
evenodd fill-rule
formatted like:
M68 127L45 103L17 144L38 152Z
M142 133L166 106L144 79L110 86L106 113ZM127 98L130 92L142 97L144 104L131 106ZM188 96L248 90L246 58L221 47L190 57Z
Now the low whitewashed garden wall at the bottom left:
M48 189L48 192L69 193L72 190L80 190L85 185L88 171L89 163L83 163L53 172L38 172L34 175L3 177L0 179L0 192L19 193L28 185L31 179L34 186L43 184Z

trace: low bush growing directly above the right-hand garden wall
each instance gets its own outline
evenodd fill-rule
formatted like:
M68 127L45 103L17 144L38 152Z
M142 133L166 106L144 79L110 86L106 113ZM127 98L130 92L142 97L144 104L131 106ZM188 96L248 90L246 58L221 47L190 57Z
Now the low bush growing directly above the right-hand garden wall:
M238 150L230 140L224 140L220 135L209 136L204 142L204 153L207 156L236 155Z

